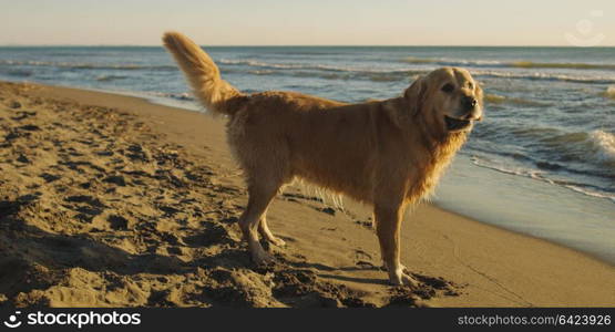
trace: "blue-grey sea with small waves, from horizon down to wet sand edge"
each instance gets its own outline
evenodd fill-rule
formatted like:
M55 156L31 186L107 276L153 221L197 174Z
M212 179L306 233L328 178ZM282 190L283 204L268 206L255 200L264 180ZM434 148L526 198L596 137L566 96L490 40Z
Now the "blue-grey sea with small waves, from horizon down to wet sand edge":
M444 65L485 91L435 203L615 262L615 48L211 46L244 92L345 102L400 94ZM0 80L104 90L198 110L156 46L0 48Z

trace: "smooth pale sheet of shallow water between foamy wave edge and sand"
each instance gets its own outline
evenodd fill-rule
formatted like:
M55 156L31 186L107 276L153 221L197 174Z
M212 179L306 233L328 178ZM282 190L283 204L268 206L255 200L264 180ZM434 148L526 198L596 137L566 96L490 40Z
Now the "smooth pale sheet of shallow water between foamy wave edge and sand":
M615 247L611 241L615 232L609 224L615 210L611 201L476 167L470 158L457 156L441 180L434 205L615 266ZM553 220L557 220L556 225Z

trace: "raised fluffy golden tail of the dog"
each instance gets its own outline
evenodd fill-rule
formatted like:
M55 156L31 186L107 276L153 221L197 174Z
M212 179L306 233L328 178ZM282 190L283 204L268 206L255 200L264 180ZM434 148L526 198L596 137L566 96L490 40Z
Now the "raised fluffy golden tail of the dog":
M194 95L207 110L214 114L233 114L237 111L236 103L230 101L243 94L222 80L218 68L207 53L178 32L166 32L163 42L186 75Z

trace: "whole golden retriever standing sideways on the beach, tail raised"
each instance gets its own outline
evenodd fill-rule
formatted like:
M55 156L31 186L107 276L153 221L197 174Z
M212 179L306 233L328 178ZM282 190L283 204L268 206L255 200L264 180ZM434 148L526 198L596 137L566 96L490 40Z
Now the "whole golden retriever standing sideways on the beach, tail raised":
M273 262L259 235L284 245L265 214L280 188L299 178L372 205L391 283L417 286L400 263L400 224L404 208L432 191L482 117L482 90L468 71L438 69L401 96L360 104L295 92L244 94L185 35L167 32L163 41L197 100L228 116L228 143L249 195L238 222L254 262Z

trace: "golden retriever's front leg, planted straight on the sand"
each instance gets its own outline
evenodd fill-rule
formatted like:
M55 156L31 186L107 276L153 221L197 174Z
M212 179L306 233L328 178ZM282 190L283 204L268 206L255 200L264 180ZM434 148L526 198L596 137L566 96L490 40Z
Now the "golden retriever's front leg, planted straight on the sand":
M376 232L380 241L380 253L391 283L417 287L417 280L408 276L400 263L399 238L402 215L403 206L401 204L376 205L373 209Z

